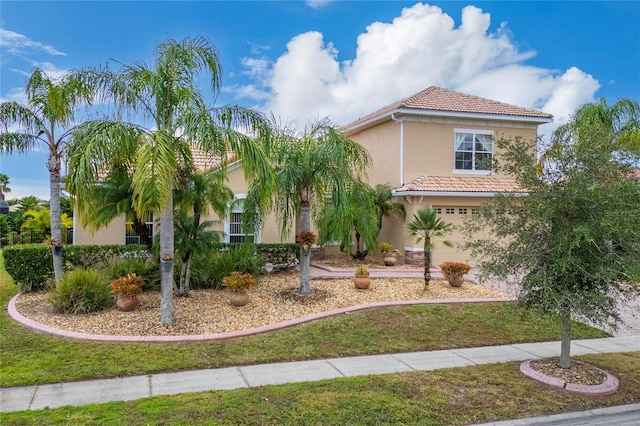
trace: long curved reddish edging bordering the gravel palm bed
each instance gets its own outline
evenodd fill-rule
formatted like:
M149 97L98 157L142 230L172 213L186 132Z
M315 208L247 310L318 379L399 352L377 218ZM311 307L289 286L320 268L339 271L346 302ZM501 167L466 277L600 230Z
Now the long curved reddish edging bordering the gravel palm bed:
M180 343L180 342L205 342L233 339L236 337L251 336L254 334L265 333L267 331L281 330L283 328L292 327L294 325L303 324L305 322L314 321L321 318L327 318L348 312L360 311L363 309L379 308L385 306L406 306L406 305L427 305L427 304L442 304L442 303L485 303L485 302L511 302L512 298L485 298L485 299L423 299L423 300L405 300L394 302L375 302L365 303L362 305L349 306L347 308L332 309L330 311L319 312L316 314L306 315L304 317L295 318L288 321L279 322L277 324L265 325L257 328L250 328L247 330L229 331L226 333L216 334L197 334L197 335L183 335L183 336L112 336L106 334L86 334L75 331L62 330L59 328L51 327L32 319L23 316L16 309L16 300L20 296L20 293L16 294L9 301L7 312L9 316L16 322L35 330L40 333L50 334L56 337L64 337L74 340L86 340L94 342L127 342L127 343Z

